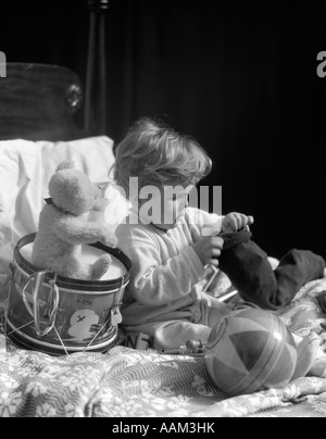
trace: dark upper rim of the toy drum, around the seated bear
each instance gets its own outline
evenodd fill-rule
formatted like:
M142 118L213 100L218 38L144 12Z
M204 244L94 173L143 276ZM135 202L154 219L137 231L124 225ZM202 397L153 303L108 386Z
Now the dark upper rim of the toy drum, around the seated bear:
M20 263L24 264L24 267L26 267L28 271L30 271L30 274L39 272L40 269L33 265L30 262L28 262L21 253L21 249L28 243L34 242L36 237L36 234L29 234L24 236L18 240L14 248L14 260L15 262L20 265ZM80 291L89 291L91 292L92 290L96 291L105 291L111 290L113 288L124 288L129 281L130 278L130 269L131 269L131 261L129 258L118 248L112 249L110 247L106 247L102 244L101 242L95 242L89 244L90 247L93 247L99 250L103 250L106 253L113 255L126 268L126 273L116 278L116 279L105 279L105 280L82 280L82 279L72 279L68 277L62 277L62 276L57 276L55 273L50 273L45 276L45 280L49 281L52 280L55 276L55 284L60 288L64 289L78 289Z

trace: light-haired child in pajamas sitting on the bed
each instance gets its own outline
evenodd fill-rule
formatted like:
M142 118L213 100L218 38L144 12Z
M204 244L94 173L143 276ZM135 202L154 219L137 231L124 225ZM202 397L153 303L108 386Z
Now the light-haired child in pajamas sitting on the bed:
M188 206L191 189L211 168L208 154L192 138L148 118L138 121L116 149L114 177L133 205L127 224L116 229L120 247L133 262L123 325L127 331L151 336L155 349L175 349L190 339L206 341L230 311L199 283L208 264L218 266L223 239L216 235L246 228L253 218ZM168 188L175 189L173 197L166 197ZM151 196L151 209L146 209L145 195Z

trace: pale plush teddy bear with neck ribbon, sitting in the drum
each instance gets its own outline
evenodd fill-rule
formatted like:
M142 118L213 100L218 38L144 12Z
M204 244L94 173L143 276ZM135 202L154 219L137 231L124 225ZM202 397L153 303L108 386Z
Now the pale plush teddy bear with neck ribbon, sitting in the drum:
M50 179L49 195L51 198L46 200L39 216L33 264L63 277L100 279L110 267L111 256L103 254L93 264L82 258L83 244L97 241L111 248L117 244L106 224L87 221L92 209L101 209L100 188L73 163L63 162Z

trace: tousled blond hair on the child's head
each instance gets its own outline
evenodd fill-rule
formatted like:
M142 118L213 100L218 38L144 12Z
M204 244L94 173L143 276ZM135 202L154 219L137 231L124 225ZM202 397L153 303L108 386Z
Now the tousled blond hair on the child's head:
M212 170L211 159L195 139L150 118L140 118L128 129L115 155L114 178L127 196L130 177L138 177L140 189L187 187Z

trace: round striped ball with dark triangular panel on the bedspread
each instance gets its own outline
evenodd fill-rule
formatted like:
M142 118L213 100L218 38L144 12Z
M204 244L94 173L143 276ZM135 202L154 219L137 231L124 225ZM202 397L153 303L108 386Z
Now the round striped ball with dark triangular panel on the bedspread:
M297 365L292 334L268 311L248 308L218 321L208 340L205 363L229 397L287 385Z

